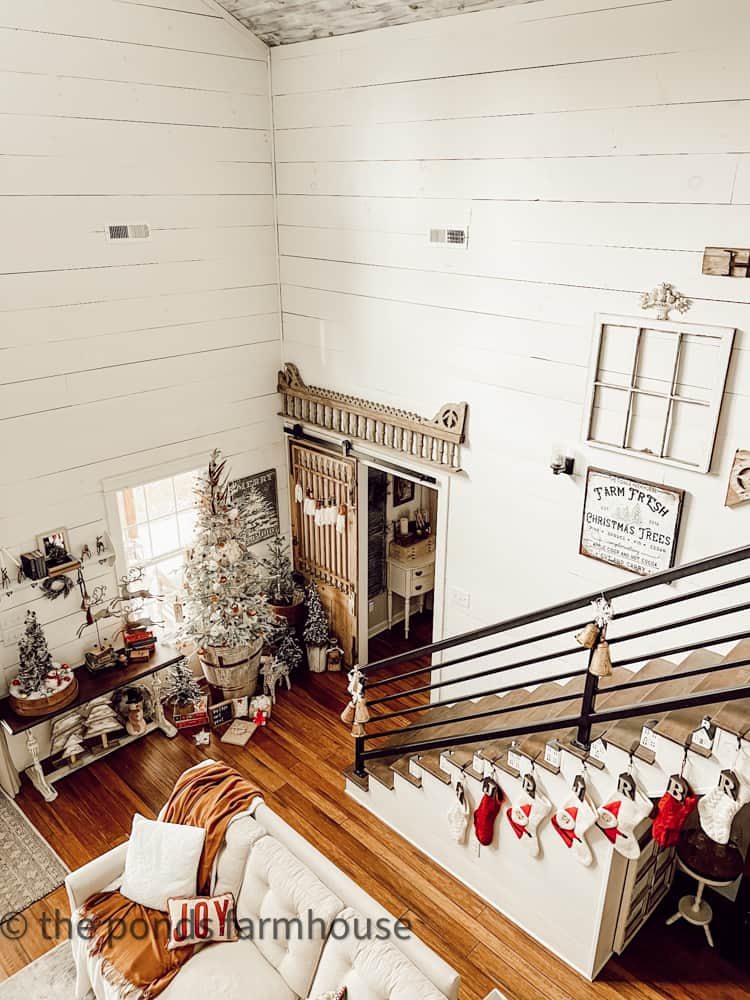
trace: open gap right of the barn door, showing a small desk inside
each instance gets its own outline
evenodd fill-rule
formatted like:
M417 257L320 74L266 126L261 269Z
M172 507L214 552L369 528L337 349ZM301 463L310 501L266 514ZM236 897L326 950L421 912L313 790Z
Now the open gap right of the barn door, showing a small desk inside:
M367 600L360 613L367 649L360 652L373 662L433 641L438 491L382 468L364 472L367 510L360 524L364 531L366 523Z

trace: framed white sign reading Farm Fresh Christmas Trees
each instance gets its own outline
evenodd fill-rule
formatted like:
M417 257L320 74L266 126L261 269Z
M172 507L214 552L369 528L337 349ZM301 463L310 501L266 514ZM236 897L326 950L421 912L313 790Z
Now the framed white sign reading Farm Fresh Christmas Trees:
M589 469L581 555L649 576L674 565L683 490Z

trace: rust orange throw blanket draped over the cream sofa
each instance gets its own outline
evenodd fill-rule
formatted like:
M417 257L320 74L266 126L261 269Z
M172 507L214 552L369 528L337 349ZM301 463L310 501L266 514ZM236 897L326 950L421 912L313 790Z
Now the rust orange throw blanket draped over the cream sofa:
M211 890L214 860L232 818L249 808L260 792L226 764L206 764L183 774L175 785L162 819L166 823L202 826L206 831L198 867L198 895ZM89 954L100 956L107 982L128 1000L152 1000L171 983L194 948L169 951L167 915L133 903L119 892L98 892L82 909L91 921ZM123 928L123 931L118 931ZM134 933L127 929L133 928Z

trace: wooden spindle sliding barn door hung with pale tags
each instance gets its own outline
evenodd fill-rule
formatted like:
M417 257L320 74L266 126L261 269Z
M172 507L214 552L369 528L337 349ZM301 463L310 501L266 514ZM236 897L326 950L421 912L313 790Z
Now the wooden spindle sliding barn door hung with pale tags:
M351 666L357 655L357 463L307 444L290 448L294 568L318 585ZM312 508L335 517L316 518Z

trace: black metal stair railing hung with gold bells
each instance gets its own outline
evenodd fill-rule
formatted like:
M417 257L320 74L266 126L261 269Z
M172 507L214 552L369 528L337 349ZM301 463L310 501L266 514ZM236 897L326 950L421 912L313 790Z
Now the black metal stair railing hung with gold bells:
M729 552L720 553L706 559L699 559L695 562L674 567L662 573L643 577L630 583L621 584L604 591L587 594L571 601L563 601L559 604L554 604L550 607L543 608L529 614L518 615L513 618L506 619L505 621L498 622L494 625L475 629L471 632L465 632L462 635L455 636L450 639L444 639L428 646L422 646L409 653L391 656L387 659L361 667L360 671L363 683L363 696L365 697L368 709L370 710L376 706L389 706L390 703L398 702L400 699L402 700L405 697L414 695L432 696L433 692L440 692L440 697L434 698L425 704L410 705L405 708L394 707L392 710L381 712L380 714L374 714L371 712L371 723L396 720L402 717L408 718L414 714L418 714L419 718L416 722L407 725L398 726L394 724L378 731L373 731L372 727L370 727L370 731L365 735L357 736L355 739L355 774L360 777L364 777L367 773L366 763L368 760L376 760L389 756L393 757L394 753L398 753L399 755L409 753L425 753L430 750L441 750L451 747L465 746L468 744L476 744L479 739L488 742L502 739L515 739L521 736L543 733L551 729L575 729L577 734L575 742L579 747L588 749L591 743L591 730L595 724L618 722L622 719L658 715L662 712L671 712L680 708L697 708L704 705L716 704L717 702L730 702L742 698L750 698L750 687L740 685L725 688L717 687L710 691L698 690L687 693L676 691L674 697L668 699L659 699L650 702L637 702L632 705L611 708L609 710L605 707L604 710L598 710L596 707L596 700L599 693L599 678L592 673L590 669L594 650L584 650L584 648L579 645L571 646L571 648L566 647L564 649L555 649L548 653L526 657L512 663L502 663L500 665L484 667L479 670L472 670L468 673L460 673L456 676L443 676L443 672L450 667L457 667L462 664L471 664L474 662L479 664L480 661L485 660L489 656L507 653L513 650L521 650L522 647L530 644L537 644L550 639L560 639L566 635L570 635L572 637L575 632L584 628L586 624L588 624L588 620L574 622L573 624L556 625L554 628L547 629L539 634L511 639L510 641L503 642L499 645L492 645L485 649L466 651L467 647L469 647L472 643L486 640L492 638L493 636L510 633L523 627L533 626L542 622L551 622L555 618L562 618L562 616L569 615L573 612L590 608L590 606L601 597L605 598L609 602L612 602L620 598L626 598L633 594L639 594L641 591L651 590L664 584L675 583L678 580L703 577L704 575L708 576L718 570L726 569L727 567L731 567L734 564L738 564L746 560L750 560L750 546L744 546ZM616 621L619 622L623 619L636 615L644 615L649 612L664 610L688 601L698 601L701 598L709 597L709 595L728 592L734 588L748 584L750 584L750 576L748 575L739 576L730 580L721 579L714 582L708 582L695 590L689 590L685 593L676 594L647 604L639 604L622 610L618 609L616 612ZM608 642L611 647L616 647L617 653L619 654L620 650L623 649L624 645L628 642L648 639L650 636L662 635L663 633L674 629L718 622L720 619L729 615L741 614L743 612L747 613L748 611L750 611L750 602L747 601L743 601L738 604L729 604L709 611L701 610L696 614L688 615L687 617L679 618L674 621L659 621L655 624L652 623L650 626L638 628L637 630L624 635L614 636L612 638L608 637ZM647 660L655 660L665 656L672 656L679 653L689 653L698 648L717 646L746 639L750 637L750 620L748 620L746 627L740 630L727 631L724 634L715 634L719 631L717 626L716 629L712 629L711 631L712 634L709 637L696 638L694 641L688 643L678 643L677 645L659 648L648 653L639 652L637 655L616 655L614 658L615 666L628 666L635 663L643 663ZM432 665L431 657L436 653L444 653L448 650L455 650L458 655L452 656L451 658L440 662L437 667L441 671L441 676L438 680L432 681L431 673L434 669L436 669L436 667ZM570 656L581 656L584 652L589 653L589 662L585 665L578 664L575 667L571 666L569 669L560 670L543 677L534 676L533 678L530 678L527 676L525 679L514 680L512 683L498 683L501 681L502 675L507 674L511 670L519 670L524 667L547 664L557 660L563 660L564 658ZM427 661L424 665L418 667L413 666L415 660L423 658ZM394 674L391 672L392 668L400 665L411 665L411 667L401 673ZM710 676L715 672L726 671L734 667L744 666L750 666L750 659L738 659L734 662L726 662L725 660L722 660L715 666L701 667L699 669L687 670L674 675L666 675L663 678L660 678L660 682L679 682L683 681L685 678L694 678L698 675ZM414 678L419 677L425 679L427 683L416 683L410 687L401 686L404 682L412 681ZM571 715L555 715L554 717L546 716L544 718L534 717L532 719L527 719L525 722L521 721L517 724L503 726L502 717L508 713L518 712L518 705L513 703L510 705L503 705L502 702L498 702L497 707L493 707L487 711L462 711L462 706L475 702L477 699L488 695L504 695L512 691L528 688L532 685L541 685L548 682L559 682L564 680L570 681L576 677L585 678L583 690L577 695L573 695L569 690L566 691L564 688L561 688L559 695L542 698L537 701L525 701L523 705L523 710L525 712L531 712L533 710L536 714L536 710L538 709L560 705L564 702L571 702L574 698L578 698L579 701L576 706L577 710ZM470 682L484 682L486 684L486 688L472 689L470 694L457 693L455 695L451 695L449 693L449 690L455 685L467 684ZM653 677L650 677L647 680L637 679L636 674L636 679L634 680L608 684L606 694L610 695L618 691L637 690L638 688L653 683ZM379 688L394 684L398 686L398 690L382 695L376 694L375 697L370 697L370 695L375 694ZM447 696L444 692L447 693ZM430 719L429 715L431 711L446 707L455 708L456 713L452 714L448 719L444 717ZM492 719L494 717L497 717L499 720L497 727L493 727L491 729L479 728L480 724L486 723L488 719ZM455 735L451 735L450 733L441 733L440 735L434 737L430 735L430 730L434 728L440 727L441 729L450 729L452 726L459 724L462 726L462 729L461 731L456 732ZM397 738L397 743L394 743L394 737ZM387 740L389 742L383 744L383 740ZM381 745L373 745L376 743L380 743Z

